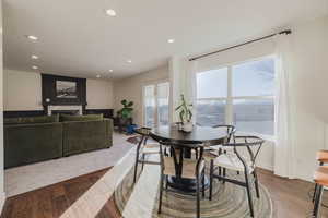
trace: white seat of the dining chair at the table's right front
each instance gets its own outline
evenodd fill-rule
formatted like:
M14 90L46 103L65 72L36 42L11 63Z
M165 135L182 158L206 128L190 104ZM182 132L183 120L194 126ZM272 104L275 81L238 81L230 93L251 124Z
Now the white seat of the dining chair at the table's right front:
M248 172L253 172L251 161L246 160ZM243 162L235 154L222 154L214 159L214 166L223 167L230 170L244 172L245 168Z

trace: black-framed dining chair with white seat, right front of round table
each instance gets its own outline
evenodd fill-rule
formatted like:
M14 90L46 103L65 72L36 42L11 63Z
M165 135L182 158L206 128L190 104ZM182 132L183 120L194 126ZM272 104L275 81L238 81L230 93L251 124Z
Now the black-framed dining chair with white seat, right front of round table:
M247 197L248 197L248 205L250 216L254 217L254 204L253 204L253 196L251 196L251 184L250 184L250 177L254 177L254 185L256 190L256 195L259 198L259 187L258 187L258 178L256 173L256 158L261 149L263 144L263 140L257 136L234 136L234 142L230 142L222 145L222 149L230 147L233 149L233 153L222 153L211 161L210 165L210 196L212 198L212 186L213 186L213 179L219 179L223 182L231 182L236 185L241 185L246 187ZM238 152L239 148L246 148L246 154L248 154L248 158L241 155ZM233 178L227 177L225 173L215 173L215 169L224 168L232 171L244 172L245 181L239 181Z

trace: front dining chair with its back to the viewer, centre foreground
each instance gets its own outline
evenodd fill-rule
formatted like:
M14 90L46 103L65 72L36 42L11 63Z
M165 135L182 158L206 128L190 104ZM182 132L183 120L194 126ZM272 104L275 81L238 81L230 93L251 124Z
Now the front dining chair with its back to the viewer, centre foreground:
M172 156L166 156L165 147L169 147ZM168 190L168 177L177 179L194 179L196 180L196 215L200 217L200 183L202 183L202 196L204 197L204 161L202 159L203 147L195 146L199 155L197 158L185 158L185 149L180 145L173 143L160 143L160 157L161 157L161 178L160 178L160 201L159 210L162 211L163 191ZM166 184L164 185L164 182ZM171 189L169 191L175 191ZM183 193L188 194L188 193Z

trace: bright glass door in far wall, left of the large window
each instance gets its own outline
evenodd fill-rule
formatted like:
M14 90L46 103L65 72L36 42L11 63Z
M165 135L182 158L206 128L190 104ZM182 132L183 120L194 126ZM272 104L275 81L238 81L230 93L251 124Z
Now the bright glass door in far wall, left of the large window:
M149 128L167 125L169 83L155 83L143 86L143 124Z

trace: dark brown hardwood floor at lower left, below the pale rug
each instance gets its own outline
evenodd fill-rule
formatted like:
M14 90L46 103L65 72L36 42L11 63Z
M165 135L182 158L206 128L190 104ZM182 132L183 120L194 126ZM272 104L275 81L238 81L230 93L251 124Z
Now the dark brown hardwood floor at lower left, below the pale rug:
M108 170L110 169L10 197L4 204L1 218L59 218ZM121 216L116 209L113 198L109 198L96 215L96 218L118 217Z

